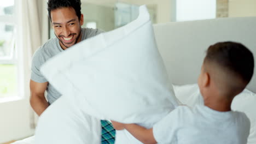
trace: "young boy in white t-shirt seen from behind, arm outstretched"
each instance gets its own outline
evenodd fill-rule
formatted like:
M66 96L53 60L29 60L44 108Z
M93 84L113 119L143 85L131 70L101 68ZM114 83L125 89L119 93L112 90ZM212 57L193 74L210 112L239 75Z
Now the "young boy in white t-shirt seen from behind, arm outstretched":
M231 102L252 78L253 54L234 42L211 45L198 79L204 106L178 106L153 128L113 122L143 143L246 144L250 122L245 113L232 111Z

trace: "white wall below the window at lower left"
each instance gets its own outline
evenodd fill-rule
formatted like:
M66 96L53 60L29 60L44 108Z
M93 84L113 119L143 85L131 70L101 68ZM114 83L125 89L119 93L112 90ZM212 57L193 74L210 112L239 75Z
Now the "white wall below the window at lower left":
M0 103L0 143L33 135L28 99Z

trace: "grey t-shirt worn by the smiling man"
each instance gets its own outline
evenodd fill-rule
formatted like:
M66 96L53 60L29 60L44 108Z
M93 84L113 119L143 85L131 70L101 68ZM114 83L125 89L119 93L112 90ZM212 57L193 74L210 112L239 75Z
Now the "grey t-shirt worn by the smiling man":
M94 37L97 34L102 33L99 29L92 28L82 28L82 40ZM46 41L44 45L39 47L39 49L34 53L32 58L32 66L31 66L31 80L39 83L48 82L45 77L40 73L40 67L48 61L51 57L57 55L58 53L64 51L59 43L59 39L52 38ZM50 70L50 69L49 69ZM47 99L50 104L52 104L56 99L58 99L61 94L56 91L56 89L48 83L46 88L47 91Z

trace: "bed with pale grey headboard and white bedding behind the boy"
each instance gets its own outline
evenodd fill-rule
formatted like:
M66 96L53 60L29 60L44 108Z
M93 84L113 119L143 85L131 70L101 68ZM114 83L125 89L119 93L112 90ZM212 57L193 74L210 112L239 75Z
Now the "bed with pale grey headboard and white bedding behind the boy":
M184 104L203 104L196 85L207 47L218 41L237 41L256 56L256 17L169 22L154 26L156 43L164 59L176 97ZM255 59L255 58L254 58ZM255 71L256 68L254 68ZM232 109L247 114L251 121L248 143L256 143L256 75L232 103ZM14 142L33 143L34 137Z

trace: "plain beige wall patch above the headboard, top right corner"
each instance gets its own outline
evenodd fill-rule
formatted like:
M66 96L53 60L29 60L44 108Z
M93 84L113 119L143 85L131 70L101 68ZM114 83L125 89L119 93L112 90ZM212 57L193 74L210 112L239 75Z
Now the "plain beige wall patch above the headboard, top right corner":
M256 16L255 0L229 0L229 17Z

